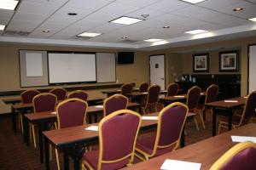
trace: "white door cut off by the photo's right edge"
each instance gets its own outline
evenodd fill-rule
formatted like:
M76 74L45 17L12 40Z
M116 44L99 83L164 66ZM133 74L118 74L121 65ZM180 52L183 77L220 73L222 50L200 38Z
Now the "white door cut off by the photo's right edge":
M249 94L256 90L256 78L255 78L255 72L256 72L256 44L255 45L249 45L249 51L248 51L248 63L249 63L249 72L248 72L248 92Z

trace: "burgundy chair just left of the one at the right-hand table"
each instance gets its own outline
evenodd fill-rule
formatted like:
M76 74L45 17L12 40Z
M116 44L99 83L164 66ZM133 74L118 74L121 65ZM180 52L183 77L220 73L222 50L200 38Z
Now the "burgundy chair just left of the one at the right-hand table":
M189 112L198 113L197 105L198 105L198 102L200 99L200 94L201 94L201 88L199 88L197 86L194 86L189 89L188 94L187 94L187 101L186 101L186 105L188 105L188 107L189 107ZM195 121L196 129L199 130L195 116L194 116L194 121ZM201 117L201 121L203 123L202 117Z

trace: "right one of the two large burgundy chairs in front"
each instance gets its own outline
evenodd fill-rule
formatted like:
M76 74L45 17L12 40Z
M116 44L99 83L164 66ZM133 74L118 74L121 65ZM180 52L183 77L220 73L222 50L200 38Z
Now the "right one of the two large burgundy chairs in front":
M137 139L135 156L145 161L150 157L176 150L188 111L188 106L180 102L167 105L158 116L156 133Z

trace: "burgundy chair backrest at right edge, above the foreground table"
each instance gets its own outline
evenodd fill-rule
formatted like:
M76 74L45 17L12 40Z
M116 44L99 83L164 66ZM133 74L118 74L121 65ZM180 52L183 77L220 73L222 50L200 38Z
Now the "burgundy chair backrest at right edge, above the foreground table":
M241 121L239 123L239 126L241 126L241 124L245 124L252 120L255 113L255 109L256 109L256 91L253 91L247 97L247 101L241 115Z

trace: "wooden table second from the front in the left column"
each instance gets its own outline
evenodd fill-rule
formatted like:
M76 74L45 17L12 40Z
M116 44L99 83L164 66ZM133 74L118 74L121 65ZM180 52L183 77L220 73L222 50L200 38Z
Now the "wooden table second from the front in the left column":
M140 104L137 103L131 103L127 105L128 109L135 109L139 107ZM89 106L87 109L87 116L90 115L98 115L102 114L103 107L97 107L97 106ZM52 111L44 111L44 112L38 112L38 113L30 113L25 114L23 119L23 127L24 127L24 142L27 146L30 145L30 137L29 137L29 123L33 123L38 125L38 137L39 137L39 150L40 150L40 161L44 162L44 152L43 152L43 137L42 132L45 130L49 130L49 123L56 121L56 114L53 114Z

